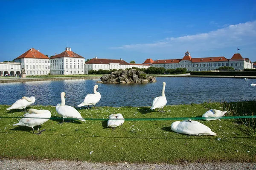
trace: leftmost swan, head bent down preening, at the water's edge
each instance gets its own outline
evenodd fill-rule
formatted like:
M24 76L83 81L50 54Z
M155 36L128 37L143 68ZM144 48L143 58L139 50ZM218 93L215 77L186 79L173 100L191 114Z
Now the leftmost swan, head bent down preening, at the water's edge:
M35 102L35 97L22 97L21 99L17 100L11 107L7 108L6 111L12 110L12 109L24 109L26 112L26 107L31 105Z

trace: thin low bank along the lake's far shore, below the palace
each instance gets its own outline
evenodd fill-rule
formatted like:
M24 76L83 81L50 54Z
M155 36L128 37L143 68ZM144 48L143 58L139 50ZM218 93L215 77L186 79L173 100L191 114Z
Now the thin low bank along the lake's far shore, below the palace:
M190 74L177 74L177 75L153 75L154 77L201 77L201 78L233 78L233 79L256 79L256 76L191 76ZM0 83L8 82L32 82L32 81L59 81L70 79L100 79L100 76L95 77L26 77L26 78L0 78Z

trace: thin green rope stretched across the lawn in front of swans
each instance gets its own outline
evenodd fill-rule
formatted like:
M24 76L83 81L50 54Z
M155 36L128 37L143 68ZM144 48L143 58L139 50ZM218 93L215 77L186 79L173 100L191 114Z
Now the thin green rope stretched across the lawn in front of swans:
M6 117L6 116L0 116L1 118L24 118L24 117ZM49 118L41 118L41 117L26 117L26 118L32 118L32 119L49 119ZM207 119L253 119L256 118L256 115L252 116L222 116L222 117L207 117ZM50 119L63 119L62 117L51 117ZM65 118L65 120L73 120L74 118ZM204 120L203 117L167 117L167 118L126 118L126 119L100 119L100 118L80 118L85 120L125 120L125 121L153 121L153 120Z

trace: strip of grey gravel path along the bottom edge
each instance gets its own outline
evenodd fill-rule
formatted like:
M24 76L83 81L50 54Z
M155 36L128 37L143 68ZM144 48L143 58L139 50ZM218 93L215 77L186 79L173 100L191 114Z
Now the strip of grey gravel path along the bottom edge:
M256 170L256 163L212 162L182 164L92 163L81 161L30 161L1 159L1 170Z

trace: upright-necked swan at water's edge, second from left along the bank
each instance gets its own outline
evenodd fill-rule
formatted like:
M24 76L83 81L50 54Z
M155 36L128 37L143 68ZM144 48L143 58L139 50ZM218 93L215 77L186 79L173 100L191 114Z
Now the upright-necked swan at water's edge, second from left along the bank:
M94 105L94 109L96 109L96 103L99 102L100 100L100 93L97 91L98 90L98 85L95 85L93 88L93 92L94 94L87 94L84 98L84 102L82 102L80 105L78 105L77 107L82 107L82 106L89 106L90 105Z

